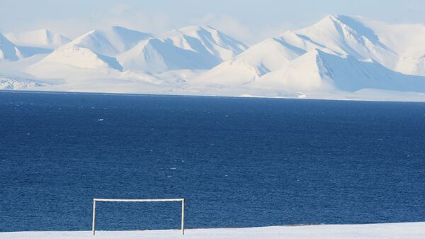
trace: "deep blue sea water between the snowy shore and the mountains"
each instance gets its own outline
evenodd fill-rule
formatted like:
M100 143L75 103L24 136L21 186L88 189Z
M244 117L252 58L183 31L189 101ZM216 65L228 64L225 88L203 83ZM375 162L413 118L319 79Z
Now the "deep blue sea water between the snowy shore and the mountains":
M0 231L425 221L425 104L0 93ZM179 203L97 204L98 230Z

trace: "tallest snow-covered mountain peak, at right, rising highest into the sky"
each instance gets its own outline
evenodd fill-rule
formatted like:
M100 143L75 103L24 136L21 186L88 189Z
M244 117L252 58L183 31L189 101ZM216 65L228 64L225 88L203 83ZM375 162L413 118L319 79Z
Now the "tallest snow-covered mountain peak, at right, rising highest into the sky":
M285 32L280 39L306 51L320 49L358 59L371 58L387 67L394 65L397 57L371 28L348 16L327 16L307 28Z

